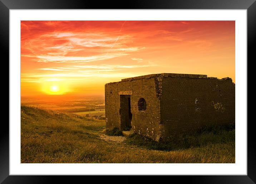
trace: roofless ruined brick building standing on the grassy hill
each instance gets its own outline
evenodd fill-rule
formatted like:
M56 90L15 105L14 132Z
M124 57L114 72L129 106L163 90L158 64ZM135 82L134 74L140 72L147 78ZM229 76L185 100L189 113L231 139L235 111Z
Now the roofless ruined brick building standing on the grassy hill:
M231 78L161 73L105 84L106 128L153 140L168 139L206 125L235 122L235 84Z

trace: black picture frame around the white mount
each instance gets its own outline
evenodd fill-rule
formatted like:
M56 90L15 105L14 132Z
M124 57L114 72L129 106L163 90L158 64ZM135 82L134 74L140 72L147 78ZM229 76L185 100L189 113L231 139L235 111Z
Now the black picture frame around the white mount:
M4 58L9 61L9 10L11 9L246 9L247 61L245 62L248 63L248 61L253 62L253 56L255 52L254 48L256 47L255 1L256 0L130 0L116 2L87 0L0 0L0 52L2 52L2 56L5 56ZM6 78L6 75L4 78ZM189 183L255 183L256 155L255 146L253 146L255 145L255 129L253 128L253 123L253 121L247 123L247 175L182 175L171 176L171 179L178 179L179 182L189 180ZM2 128L0 133L0 182L60 182L59 176L9 175L9 124L3 121L1 127ZM75 178L81 179L81 177ZM88 177L89 176L87 176L87 179ZM106 177L104 177L103 180L109 180ZM133 177L134 176L123 177L122 183L133 182L135 180ZM75 182L74 176L62 176L62 179L64 179L65 183ZM119 179L117 179L117 181L118 180ZM149 176L147 178L144 178L143 183L148 181L152 181L152 177Z

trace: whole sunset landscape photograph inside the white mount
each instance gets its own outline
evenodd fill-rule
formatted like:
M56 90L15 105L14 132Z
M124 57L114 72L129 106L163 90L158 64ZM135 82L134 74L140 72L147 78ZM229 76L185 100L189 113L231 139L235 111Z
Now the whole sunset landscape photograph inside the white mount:
M235 32L21 20L20 163L236 163Z

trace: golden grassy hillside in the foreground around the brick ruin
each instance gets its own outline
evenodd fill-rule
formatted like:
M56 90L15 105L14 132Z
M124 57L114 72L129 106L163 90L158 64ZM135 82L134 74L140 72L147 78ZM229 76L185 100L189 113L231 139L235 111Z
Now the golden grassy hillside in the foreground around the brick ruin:
M21 163L235 163L232 126L169 143L104 132L104 120L21 106Z

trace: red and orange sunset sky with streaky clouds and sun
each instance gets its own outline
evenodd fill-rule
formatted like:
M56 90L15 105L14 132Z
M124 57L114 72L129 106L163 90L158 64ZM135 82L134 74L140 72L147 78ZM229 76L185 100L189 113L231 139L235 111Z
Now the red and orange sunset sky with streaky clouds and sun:
M235 82L235 21L21 21L21 96L104 95L152 73Z

